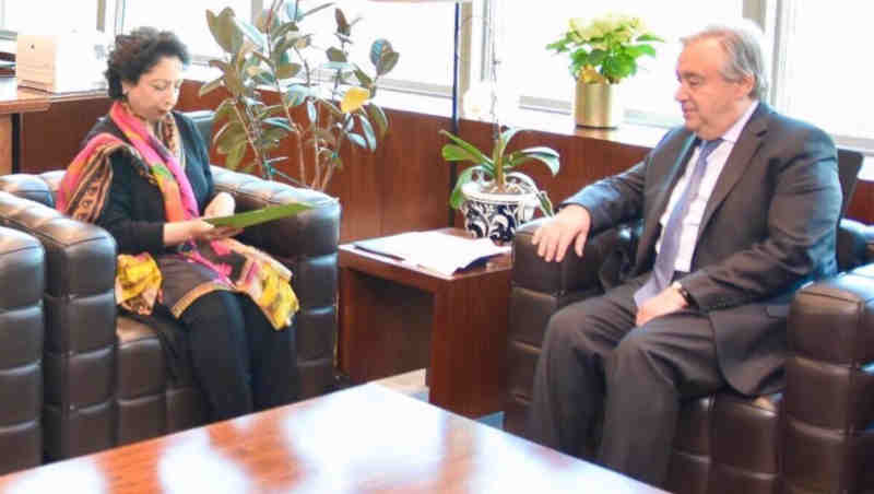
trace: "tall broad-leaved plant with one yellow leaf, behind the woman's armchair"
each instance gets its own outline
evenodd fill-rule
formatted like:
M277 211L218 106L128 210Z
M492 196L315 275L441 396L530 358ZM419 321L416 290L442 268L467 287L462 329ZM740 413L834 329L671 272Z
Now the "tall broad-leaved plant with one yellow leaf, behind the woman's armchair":
M221 75L203 84L200 94L218 87L228 93L216 108L216 119L226 124L215 132L213 144L232 169L252 169L269 179L324 190L343 165L339 153L343 142L373 152L383 139L388 119L370 98L400 55L388 40L377 39L370 46L369 67L362 67L350 57L359 19L349 20L341 9L333 9L338 45L316 47L308 21L329 14L333 2L306 11L299 0L269 3L253 23L237 17L231 8L217 14L206 11L210 33L224 55L210 61ZM267 105L262 90L279 93L281 104ZM292 109L300 105L305 118L295 121ZM297 140L298 155L274 156L288 138ZM305 148L311 152L305 153ZM307 165L305 156L315 162ZM288 162L296 162L297 177L280 170Z

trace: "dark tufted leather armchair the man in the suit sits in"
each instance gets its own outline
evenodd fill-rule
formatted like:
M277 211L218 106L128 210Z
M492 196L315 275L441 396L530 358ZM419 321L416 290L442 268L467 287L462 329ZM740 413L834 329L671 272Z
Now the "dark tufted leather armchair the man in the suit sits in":
M862 156L839 151L845 204ZM543 331L558 308L602 292L602 264L634 251L635 228L594 236L583 259L545 263L531 245L538 224L513 240L505 430L523 435ZM843 220L841 273L794 297L791 356L782 393L725 390L683 405L668 489L677 493L858 493L874 490L874 264L871 227Z

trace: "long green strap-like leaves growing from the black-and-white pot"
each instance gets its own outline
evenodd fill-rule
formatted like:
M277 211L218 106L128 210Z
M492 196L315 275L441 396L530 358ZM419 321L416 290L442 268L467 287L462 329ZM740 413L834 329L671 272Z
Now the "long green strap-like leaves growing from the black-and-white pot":
M507 175L512 174L521 177L528 184L534 184L528 175L516 170L516 168L528 162L538 162L546 165L550 172L555 176L558 173L560 161L558 153L544 146L525 148L523 150L512 151L507 153L507 148L515 136L521 132L521 129L507 128L500 132L493 142L492 152L485 154L480 151L475 145L470 142L453 136L452 133L440 130L440 133L449 138L452 142L444 144L441 154L447 162L470 162L474 166L464 168L456 180L456 187L449 196L449 205L454 209L460 209L461 203L464 202L462 188L465 184L474 180L479 175L483 180L491 180L493 183L492 189L496 192L512 192L508 187ZM541 211L545 215L553 215L552 202L550 202L546 192L535 190L538 200L540 202Z

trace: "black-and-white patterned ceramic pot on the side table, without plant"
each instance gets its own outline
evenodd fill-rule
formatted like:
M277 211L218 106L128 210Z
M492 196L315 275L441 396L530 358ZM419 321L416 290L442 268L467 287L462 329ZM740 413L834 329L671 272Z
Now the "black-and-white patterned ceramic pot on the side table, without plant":
M476 237L488 237L504 244L512 240L519 225L531 221L538 207L538 189L528 177L518 179L511 175L507 175L508 180L524 184L522 193L488 192L483 190L487 187L479 181L462 186L464 230Z

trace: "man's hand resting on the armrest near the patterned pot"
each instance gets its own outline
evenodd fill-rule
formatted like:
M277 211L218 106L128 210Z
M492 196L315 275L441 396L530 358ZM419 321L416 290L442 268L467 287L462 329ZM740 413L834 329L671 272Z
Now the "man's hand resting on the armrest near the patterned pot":
M546 262L552 262L553 259L560 262L571 242L577 256L582 257L591 224L592 217L586 208L567 205L534 232L531 243L538 246L538 256Z

